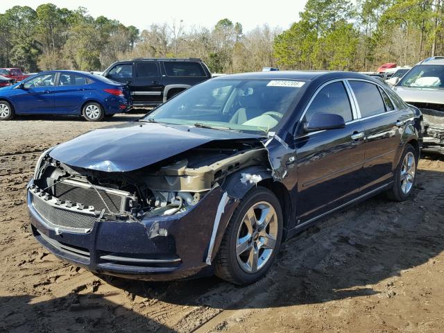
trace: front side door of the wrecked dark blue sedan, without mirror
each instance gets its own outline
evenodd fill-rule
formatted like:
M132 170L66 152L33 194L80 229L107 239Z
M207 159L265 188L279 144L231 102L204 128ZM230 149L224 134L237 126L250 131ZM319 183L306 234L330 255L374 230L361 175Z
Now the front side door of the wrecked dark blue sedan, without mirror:
M305 133L302 124L316 113L339 114L345 128ZM298 224L359 196L364 163L364 126L354 121L343 82L323 87L314 97L296 133Z

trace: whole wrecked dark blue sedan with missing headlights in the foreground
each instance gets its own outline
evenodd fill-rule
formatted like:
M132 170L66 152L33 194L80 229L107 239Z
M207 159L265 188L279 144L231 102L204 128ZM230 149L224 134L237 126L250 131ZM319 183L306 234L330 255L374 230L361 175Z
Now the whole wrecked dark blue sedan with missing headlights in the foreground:
M422 128L420 110L370 76L221 76L43 153L31 230L94 272L253 283L323 216L382 191L407 200Z

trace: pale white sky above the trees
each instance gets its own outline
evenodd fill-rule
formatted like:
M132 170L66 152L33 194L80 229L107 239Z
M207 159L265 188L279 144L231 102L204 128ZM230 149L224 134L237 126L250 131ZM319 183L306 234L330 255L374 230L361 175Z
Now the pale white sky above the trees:
M219 19L228 18L240 22L244 32L256 26L268 24L287 29L298 21L299 12L306 0L0 0L0 12L12 6L37 8L42 3L53 3L58 7L76 9L87 8L93 17L105 16L118 19L126 26L136 26L143 30L153 23L171 24L183 20L185 28L205 26L212 28Z

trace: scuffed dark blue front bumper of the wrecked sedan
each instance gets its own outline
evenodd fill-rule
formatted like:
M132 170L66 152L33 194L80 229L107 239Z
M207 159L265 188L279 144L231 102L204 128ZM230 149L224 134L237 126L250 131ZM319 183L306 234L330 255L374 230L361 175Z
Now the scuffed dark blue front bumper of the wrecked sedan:
M89 232L73 232L46 221L35 209L33 194L28 190L33 235L51 253L95 273L152 281L214 272L206 262L208 257L214 259L237 205L228 200L219 219L216 212L221 200L223 190L216 187L181 214L153 216L140 222L97 221Z

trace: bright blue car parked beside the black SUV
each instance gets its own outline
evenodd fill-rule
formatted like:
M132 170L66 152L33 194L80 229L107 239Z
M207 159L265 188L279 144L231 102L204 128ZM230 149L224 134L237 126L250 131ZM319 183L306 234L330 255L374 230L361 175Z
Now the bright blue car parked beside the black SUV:
M84 71L43 71L0 89L0 120L16 114L60 114L101 121L132 105L126 85Z

